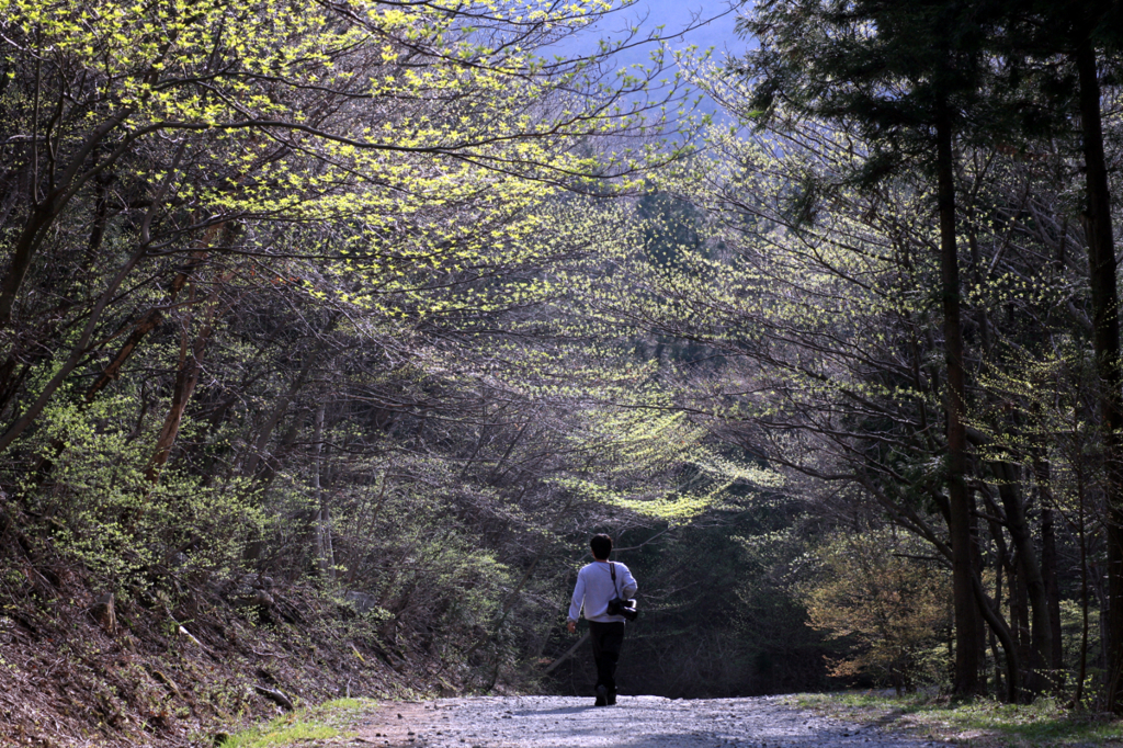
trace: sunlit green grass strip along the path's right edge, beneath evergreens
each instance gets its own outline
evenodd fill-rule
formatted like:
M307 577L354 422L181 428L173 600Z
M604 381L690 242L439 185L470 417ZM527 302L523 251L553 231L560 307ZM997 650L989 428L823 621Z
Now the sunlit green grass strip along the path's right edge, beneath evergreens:
M789 701L832 717L874 722L961 745L1037 748L1123 742L1123 721L1072 712L1051 699L1039 699L1032 704L1001 704L989 700L956 703L946 697L849 692L802 694Z

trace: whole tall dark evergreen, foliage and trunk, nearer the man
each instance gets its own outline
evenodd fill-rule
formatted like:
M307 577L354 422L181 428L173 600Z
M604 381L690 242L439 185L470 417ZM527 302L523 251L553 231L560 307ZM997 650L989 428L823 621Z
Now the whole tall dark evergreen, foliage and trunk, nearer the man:
M984 94L998 11L995 3L962 0L769 0L741 26L759 39L740 72L755 79L755 109L763 121L810 115L853 128L874 147L862 171L850 175L859 184L917 167L935 183L947 376L948 501L942 509L952 547L953 690L961 695L980 691L978 612L986 603L977 599L973 498L965 481L955 146L986 129L1001 111Z

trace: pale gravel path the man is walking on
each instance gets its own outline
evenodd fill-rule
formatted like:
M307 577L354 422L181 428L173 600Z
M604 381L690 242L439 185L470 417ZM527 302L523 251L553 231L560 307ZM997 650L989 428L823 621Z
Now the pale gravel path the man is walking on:
M779 697L670 700L508 696L387 704L359 741L392 748L932 748L877 726L784 705Z

